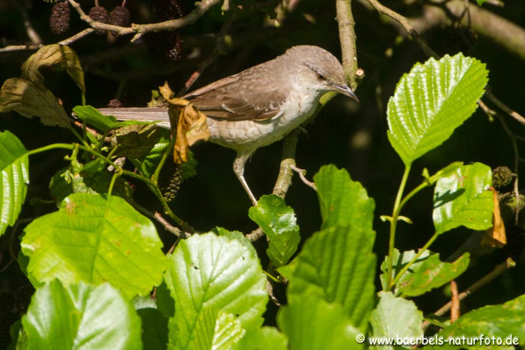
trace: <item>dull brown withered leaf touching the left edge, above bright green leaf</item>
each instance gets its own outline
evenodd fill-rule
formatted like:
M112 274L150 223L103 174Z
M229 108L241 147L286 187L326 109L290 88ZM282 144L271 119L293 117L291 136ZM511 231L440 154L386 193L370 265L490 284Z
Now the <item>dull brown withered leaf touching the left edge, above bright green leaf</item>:
M7 79L0 91L0 112L15 111L23 116L40 117L44 125L71 128L64 107L53 92L26 79Z

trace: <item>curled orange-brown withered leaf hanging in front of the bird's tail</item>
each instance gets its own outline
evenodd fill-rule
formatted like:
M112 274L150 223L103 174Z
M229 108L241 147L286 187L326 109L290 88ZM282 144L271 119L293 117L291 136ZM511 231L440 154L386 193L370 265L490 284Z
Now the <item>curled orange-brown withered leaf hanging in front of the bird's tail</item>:
M175 146L173 147L174 162L176 164L186 163L189 160L189 147L199 140L206 141L209 139L207 116L190 101L174 98L174 93L167 83L159 90L169 103L168 112L172 135L176 135Z

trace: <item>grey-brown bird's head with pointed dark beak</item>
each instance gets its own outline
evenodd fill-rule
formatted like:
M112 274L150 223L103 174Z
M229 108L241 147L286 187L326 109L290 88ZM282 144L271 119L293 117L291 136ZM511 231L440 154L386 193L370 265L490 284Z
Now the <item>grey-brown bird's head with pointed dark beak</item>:
M358 97L346 83L343 66L330 52L318 46L294 46L286 52L308 69L303 70L308 80L318 90L335 91L359 102Z

